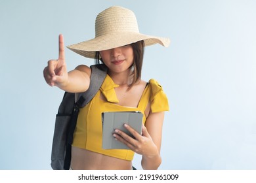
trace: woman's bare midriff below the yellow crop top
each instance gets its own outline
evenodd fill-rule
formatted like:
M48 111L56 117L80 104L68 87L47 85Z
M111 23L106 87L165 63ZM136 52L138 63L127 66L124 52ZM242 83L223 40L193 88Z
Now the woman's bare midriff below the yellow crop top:
M132 163L72 146L70 167L74 170L131 170Z

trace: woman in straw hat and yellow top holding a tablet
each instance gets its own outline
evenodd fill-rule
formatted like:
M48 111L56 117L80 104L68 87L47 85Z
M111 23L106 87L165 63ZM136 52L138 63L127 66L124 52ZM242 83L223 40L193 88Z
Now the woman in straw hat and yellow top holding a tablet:
M134 152L142 155L143 169L158 169L161 164L161 129L167 97L156 80L140 79L144 46L169 45L169 39L139 33L131 10L110 7L100 12L95 22L95 39L68 46L81 56L96 58L108 67L108 75L91 102L79 111L72 144L71 169L132 169ZM79 65L67 72L64 39L59 36L59 57L50 60L44 77L50 86L72 93L89 88L91 69ZM102 149L102 112L134 111L143 114L142 133L129 125L135 138L116 129L113 138L131 150Z

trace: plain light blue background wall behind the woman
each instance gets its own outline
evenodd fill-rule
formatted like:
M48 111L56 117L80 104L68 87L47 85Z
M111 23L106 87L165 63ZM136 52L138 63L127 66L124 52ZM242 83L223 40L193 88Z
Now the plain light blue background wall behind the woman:
M256 169L256 1L0 0L0 169L51 169L63 92L43 68L66 45L94 37L95 17L130 8L141 33L171 38L146 48L142 78L169 97L160 169ZM68 69L93 64L66 49ZM140 167L140 156L134 165Z

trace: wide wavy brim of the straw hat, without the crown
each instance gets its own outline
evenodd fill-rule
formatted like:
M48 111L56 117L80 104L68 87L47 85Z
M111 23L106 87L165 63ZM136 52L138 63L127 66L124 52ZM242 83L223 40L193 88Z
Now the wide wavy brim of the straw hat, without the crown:
M164 37L154 37L134 32L121 32L98 36L89 41L72 44L67 46L67 48L86 58L95 58L95 52L117 48L142 40L144 40L145 46L158 43L167 47L170 44L170 40Z

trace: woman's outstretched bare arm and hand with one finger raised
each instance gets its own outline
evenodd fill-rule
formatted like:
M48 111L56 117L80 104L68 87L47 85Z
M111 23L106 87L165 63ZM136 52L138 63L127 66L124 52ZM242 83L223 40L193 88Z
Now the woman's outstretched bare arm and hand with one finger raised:
M63 35L58 37L58 46L58 59L49 60L43 70L45 81L66 92L85 92L89 88L91 69L86 65L79 65L73 71L67 72Z

